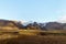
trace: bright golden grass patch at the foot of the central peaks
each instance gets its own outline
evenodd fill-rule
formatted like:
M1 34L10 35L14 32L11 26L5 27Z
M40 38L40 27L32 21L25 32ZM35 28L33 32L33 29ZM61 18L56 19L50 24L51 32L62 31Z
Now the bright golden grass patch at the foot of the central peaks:
M20 30L19 34L25 34L25 35L37 35L40 32L38 30Z

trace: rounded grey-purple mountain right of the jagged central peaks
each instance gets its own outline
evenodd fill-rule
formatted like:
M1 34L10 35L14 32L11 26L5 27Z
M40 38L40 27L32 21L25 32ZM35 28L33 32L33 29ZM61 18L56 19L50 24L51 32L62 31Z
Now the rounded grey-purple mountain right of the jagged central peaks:
M47 30L63 30L63 24L58 22L48 22L45 28Z

